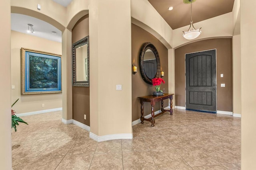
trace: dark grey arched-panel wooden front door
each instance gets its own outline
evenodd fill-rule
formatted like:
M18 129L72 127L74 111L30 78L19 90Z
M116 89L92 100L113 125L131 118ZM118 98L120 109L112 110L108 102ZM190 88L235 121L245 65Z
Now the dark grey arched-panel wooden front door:
M216 112L216 50L186 54L186 109Z

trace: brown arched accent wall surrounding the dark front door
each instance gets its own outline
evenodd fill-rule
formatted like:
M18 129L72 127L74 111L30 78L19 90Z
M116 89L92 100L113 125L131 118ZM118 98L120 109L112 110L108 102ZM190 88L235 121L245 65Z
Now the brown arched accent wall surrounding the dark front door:
M216 49L217 110L233 110L232 39L208 39L175 49L175 106L185 106L185 54ZM224 74L221 78L220 74ZM220 87L225 83L226 87Z

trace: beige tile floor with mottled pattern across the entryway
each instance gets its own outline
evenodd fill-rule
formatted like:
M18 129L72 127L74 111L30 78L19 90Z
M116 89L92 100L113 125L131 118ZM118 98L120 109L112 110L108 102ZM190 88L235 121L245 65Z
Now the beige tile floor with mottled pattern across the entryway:
M240 170L241 119L174 109L133 126L133 139L96 142L61 111L24 116L12 131L13 170Z

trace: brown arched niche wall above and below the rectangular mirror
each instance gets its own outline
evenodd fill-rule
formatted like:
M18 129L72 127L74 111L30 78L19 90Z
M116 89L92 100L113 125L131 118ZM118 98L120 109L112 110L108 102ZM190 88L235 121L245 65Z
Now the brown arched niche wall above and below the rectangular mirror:
M72 44L88 35L89 16L86 15L80 18L72 29ZM72 98L73 119L90 126L90 87L73 87ZM86 120L84 119L84 114L86 114Z

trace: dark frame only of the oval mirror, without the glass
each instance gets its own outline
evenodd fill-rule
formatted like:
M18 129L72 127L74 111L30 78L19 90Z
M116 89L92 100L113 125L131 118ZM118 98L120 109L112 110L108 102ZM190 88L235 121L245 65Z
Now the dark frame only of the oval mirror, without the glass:
M150 78L148 78L148 76L146 75L145 71L144 71L144 66L143 66L143 58L144 58L144 54L146 52L146 50L150 49L155 57L156 57L156 63L157 63L157 71L156 71L156 75L154 78L158 78L160 76L160 58L159 58L159 54L158 51L156 50L156 47L152 44L152 43L144 43L140 49L140 73L142 76L142 79L148 83L148 84L152 84L152 80Z

